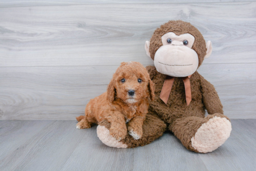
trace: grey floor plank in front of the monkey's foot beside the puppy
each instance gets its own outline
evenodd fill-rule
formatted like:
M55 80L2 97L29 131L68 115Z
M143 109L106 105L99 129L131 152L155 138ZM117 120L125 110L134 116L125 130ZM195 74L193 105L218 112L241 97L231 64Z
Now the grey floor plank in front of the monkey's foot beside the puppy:
M96 125L90 130L78 131L87 133L87 135L83 136L70 158L63 164L61 171L131 170L135 162L132 149L117 149L104 145L97 137Z

